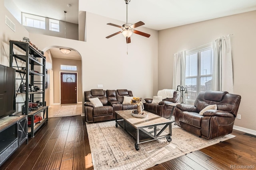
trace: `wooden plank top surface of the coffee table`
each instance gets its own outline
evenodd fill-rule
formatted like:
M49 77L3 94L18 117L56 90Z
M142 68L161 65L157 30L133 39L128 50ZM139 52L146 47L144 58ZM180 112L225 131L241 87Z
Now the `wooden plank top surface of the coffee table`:
M148 113L148 116L145 118L132 116L132 110L119 110L115 112L136 129L140 129L143 127L152 127L154 125L164 125L171 122L169 119L160 117L148 111L145 111L146 113Z

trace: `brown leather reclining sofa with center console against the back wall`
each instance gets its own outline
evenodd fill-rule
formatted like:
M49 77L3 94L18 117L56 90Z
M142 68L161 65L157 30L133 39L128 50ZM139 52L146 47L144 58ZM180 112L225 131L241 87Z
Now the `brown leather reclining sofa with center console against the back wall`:
M115 111L136 109L136 105L122 104L124 96L132 96L132 91L92 89L84 92L84 113L87 122L99 122L116 119ZM103 106L94 107L90 98L99 98Z

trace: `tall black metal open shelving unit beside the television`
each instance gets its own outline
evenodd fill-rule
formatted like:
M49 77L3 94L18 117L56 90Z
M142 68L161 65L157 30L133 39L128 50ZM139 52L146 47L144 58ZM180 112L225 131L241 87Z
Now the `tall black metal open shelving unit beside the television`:
M46 57L31 43L10 40L10 67L16 69L16 110L19 110L17 115L28 116L30 137L34 137L34 133L48 121L45 63ZM34 123L36 115L42 117L40 123Z

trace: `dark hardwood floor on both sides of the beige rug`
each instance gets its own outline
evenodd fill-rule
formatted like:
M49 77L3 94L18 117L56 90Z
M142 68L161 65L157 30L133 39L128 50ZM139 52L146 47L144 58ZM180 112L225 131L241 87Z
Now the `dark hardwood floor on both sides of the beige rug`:
M256 168L256 138L234 130L232 139L191 152L148 170L230 170ZM243 165L241 167L241 165ZM248 166L248 167L246 167ZM91 170L84 117L49 118L4 162L0 170Z

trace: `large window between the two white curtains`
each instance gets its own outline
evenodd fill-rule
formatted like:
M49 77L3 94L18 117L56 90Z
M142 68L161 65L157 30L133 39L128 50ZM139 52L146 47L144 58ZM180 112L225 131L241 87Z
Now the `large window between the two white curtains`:
M212 62L212 43L186 51L188 102L196 100L199 92L212 90Z

